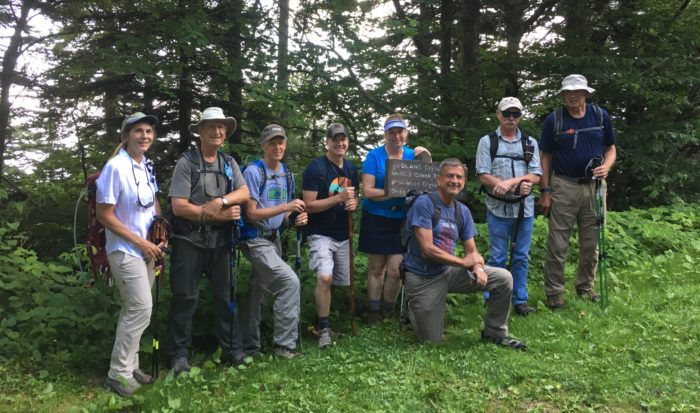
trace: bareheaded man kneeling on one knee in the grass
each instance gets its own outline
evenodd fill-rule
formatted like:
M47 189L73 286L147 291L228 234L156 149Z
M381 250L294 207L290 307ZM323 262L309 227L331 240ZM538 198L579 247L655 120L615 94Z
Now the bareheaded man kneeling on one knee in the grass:
M416 199L406 218L412 236L403 262L413 331L421 341L440 341L447 293L489 291L481 339L525 350L525 343L508 336L513 277L506 269L484 265L474 243L471 213L455 200L466 184L462 163L454 158L443 161L437 184L436 192ZM455 256L457 239L464 245L464 258Z

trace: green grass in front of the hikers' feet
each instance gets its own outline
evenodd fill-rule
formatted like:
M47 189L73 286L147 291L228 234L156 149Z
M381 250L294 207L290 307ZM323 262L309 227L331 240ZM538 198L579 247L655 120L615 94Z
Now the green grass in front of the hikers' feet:
M166 370L130 399L101 388L107 354L87 355L104 362L83 371L5 364L0 411L700 411L699 248L689 250L609 268L607 309L577 299L569 278L567 308L549 311L533 269L538 312L510 322L527 352L482 344L481 297L451 296L440 345L419 345L394 322L360 323L355 337L346 334L325 351L305 338L304 357L294 360L265 357L226 369L199 356L191 374ZM346 317L334 321L349 332Z

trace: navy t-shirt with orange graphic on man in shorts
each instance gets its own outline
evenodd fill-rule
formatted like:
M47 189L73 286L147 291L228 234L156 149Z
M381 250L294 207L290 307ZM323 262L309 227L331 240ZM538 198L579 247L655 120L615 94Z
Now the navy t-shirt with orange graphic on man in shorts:
M326 199L349 186L359 189L360 185L357 166L347 159L343 159L343 169L340 169L324 155L314 159L304 170L302 189L316 192L316 199ZM348 212L345 205L337 204L325 211L309 214L304 235L323 235L336 241L348 239Z

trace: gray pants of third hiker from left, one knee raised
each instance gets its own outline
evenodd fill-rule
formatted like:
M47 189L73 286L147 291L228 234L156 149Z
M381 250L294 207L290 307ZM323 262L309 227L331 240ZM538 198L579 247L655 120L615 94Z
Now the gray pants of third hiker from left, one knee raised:
M282 260L279 238L274 242L259 237L245 240L241 250L253 268L247 303L241 306L244 351L251 354L260 350L260 321L270 297L275 320L274 343L296 348L301 300L299 278Z

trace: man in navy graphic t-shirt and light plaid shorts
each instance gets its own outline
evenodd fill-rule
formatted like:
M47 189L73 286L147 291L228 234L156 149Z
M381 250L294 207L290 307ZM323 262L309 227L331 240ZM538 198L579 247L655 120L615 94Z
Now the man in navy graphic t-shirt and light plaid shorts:
M359 187L357 167L345 159L348 133L334 123L326 132L326 154L304 170L303 198L309 224L304 235L309 241L309 267L318 278L314 290L318 322L318 347L332 343L328 316L331 284L350 285L349 214L357 208Z

